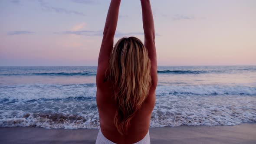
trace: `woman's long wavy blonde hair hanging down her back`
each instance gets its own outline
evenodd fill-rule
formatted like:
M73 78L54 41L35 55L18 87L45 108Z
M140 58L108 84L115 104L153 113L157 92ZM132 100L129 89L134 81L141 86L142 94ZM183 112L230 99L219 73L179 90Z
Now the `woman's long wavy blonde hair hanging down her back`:
M151 61L140 39L124 37L115 44L109 59L108 79L113 84L117 104L114 123L126 134L131 119L141 108L151 87Z

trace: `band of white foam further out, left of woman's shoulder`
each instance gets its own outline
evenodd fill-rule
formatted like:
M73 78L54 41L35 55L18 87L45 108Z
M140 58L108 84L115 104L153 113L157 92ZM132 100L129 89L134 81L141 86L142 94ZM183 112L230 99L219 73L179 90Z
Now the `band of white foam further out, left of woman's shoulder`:
M36 100L40 98L95 97L95 84L33 84L0 86L0 98Z

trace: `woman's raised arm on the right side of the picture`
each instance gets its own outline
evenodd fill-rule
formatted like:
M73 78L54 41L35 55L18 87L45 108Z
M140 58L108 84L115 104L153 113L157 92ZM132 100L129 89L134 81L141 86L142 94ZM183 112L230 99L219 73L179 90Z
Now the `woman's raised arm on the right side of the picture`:
M151 60L151 78L153 85L157 85L157 52L155 47L154 19L151 10L150 0L141 0L142 19L145 42L144 45L148 49L148 56Z

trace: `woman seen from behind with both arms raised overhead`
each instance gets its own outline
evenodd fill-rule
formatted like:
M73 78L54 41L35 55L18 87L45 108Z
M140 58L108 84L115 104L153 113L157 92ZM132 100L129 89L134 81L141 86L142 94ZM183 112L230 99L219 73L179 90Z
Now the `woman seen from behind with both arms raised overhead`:
M144 45L121 38L113 47L121 0L111 0L96 75L100 130L96 144L150 144L157 59L150 0L141 0Z

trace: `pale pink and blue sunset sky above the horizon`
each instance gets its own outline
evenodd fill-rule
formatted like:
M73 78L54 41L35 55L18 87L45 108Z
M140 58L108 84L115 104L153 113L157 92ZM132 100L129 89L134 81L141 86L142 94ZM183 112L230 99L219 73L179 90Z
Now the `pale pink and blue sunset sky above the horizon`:
M110 0L0 0L0 66L96 66ZM256 0L151 0L158 65L256 65ZM144 41L121 0L115 42Z

